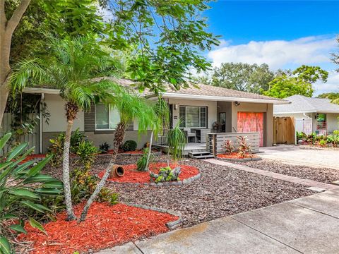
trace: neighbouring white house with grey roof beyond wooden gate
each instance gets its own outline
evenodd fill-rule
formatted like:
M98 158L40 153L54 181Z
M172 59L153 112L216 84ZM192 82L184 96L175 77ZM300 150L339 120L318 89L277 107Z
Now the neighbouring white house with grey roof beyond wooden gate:
M274 116L293 116L296 119L296 131L326 134L339 129L339 105L331 103L330 99L302 95L293 95L285 99L291 103L275 105Z

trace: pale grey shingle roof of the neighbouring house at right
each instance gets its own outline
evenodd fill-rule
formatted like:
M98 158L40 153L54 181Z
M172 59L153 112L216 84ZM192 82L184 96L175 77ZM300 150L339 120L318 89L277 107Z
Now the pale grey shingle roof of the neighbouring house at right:
M285 98L291 104L274 105L275 114L291 112L307 113L339 113L339 105L331 103L330 99L310 98L302 95L293 95Z

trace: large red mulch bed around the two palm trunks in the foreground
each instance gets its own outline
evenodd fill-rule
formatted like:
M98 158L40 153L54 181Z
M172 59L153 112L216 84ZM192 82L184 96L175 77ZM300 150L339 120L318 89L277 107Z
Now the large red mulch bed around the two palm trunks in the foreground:
M75 208L81 214L83 204ZM28 234L20 234L22 241L32 241L31 253L79 253L100 250L134 241L145 236L168 231L167 222L177 220L171 214L145 210L129 205L94 202L85 222L66 222L66 212L57 221L44 225L47 235L25 225Z

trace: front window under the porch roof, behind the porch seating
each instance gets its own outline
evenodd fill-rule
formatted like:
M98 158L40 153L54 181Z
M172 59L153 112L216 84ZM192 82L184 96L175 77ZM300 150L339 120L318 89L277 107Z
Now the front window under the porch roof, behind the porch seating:
M179 107L180 127L206 128L207 107Z

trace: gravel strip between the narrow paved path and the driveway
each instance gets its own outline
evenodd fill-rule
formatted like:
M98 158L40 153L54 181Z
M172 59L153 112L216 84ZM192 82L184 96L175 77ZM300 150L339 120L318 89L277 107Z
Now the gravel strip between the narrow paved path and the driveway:
M339 180L339 170L336 169L291 165L275 161L274 159L262 159L256 162L237 162L237 164L323 183Z

